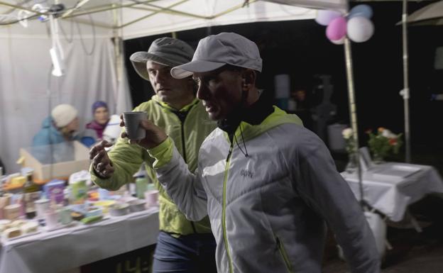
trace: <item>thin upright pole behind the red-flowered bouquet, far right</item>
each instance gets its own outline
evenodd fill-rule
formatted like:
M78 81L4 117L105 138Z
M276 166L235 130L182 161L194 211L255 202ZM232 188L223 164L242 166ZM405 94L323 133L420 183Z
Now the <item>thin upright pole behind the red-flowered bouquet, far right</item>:
M410 121L409 121L409 80L408 80L408 0L403 0L402 30L403 30L403 90L400 94L403 96L405 111L405 148L407 163L411 162L411 144L410 144Z

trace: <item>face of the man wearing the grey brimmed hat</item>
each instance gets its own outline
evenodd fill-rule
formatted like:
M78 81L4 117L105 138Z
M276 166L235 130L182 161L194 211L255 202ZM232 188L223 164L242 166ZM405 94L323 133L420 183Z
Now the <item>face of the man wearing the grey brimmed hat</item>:
M194 99L192 81L186 79L174 79L170 74L171 67L160 65L156 62L146 62L149 81L160 100L170 106L181 108Z

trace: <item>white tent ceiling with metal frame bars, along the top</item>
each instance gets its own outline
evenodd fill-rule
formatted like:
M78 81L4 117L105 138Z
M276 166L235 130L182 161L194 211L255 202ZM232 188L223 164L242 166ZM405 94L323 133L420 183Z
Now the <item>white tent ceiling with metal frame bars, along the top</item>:
M310 19L315 10L307 8L347 8L346 0L0 0L0 24L6 25L0 26L0 35L48 37L47 24L38 17L48 15L55 3L65 6L57 16L62 26L78 22L79 32L86 35L92 33L91 26L94 35L114 35L117 30L124 39L234 23Z

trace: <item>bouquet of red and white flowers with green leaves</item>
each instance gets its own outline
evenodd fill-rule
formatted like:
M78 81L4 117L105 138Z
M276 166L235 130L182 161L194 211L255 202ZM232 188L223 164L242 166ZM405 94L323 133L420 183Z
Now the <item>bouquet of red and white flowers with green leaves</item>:
M391 153L398 154L403 144L402 133L396 135L383 127L378 128L376 133L372 130L367 130L366 133L369 135L368 146L374 162L382 162Z

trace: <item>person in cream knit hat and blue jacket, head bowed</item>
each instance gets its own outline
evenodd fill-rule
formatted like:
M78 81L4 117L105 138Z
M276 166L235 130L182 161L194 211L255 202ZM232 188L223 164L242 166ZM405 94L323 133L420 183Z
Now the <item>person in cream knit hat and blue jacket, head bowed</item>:
M58 144L80 140L75 134L79 129L77 109L70 104L60 104L45 118L42 128L33 138L33 146Z

